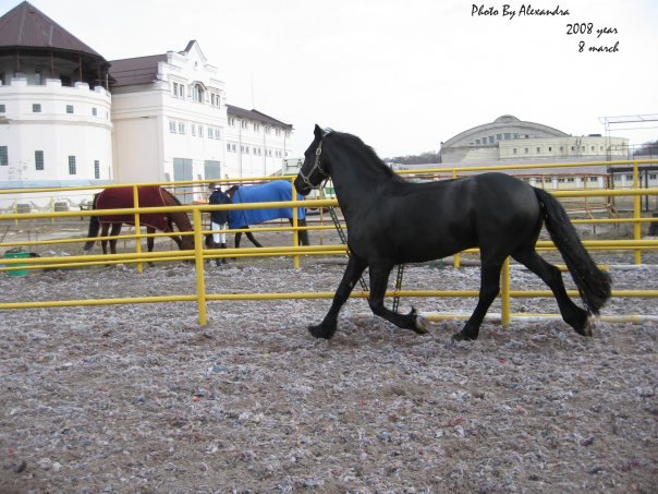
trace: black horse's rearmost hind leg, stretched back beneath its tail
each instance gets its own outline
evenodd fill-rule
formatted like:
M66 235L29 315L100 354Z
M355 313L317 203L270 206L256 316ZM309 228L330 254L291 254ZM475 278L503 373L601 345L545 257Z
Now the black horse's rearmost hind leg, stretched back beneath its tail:
M578 308L569 298L560 269L546 262L534 249L514 252L512 257L548 285L556 297L558 306L560 308L560 314L562 314L562 318L566 324L573 327L578 335L592 336L592 327L589 325L587 312Z

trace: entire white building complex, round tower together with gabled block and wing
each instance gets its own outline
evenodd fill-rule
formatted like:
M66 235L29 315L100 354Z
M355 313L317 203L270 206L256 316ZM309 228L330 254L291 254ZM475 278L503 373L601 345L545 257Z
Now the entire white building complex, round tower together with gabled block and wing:
M194 40L108 62L28 2L0 17L0 189L269 176L291 132L227 105Z

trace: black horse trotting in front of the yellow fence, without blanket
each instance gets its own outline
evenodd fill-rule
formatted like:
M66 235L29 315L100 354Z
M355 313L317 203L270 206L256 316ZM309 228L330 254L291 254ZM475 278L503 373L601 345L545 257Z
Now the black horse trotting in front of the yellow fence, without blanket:
M454 339L477 338L499 293L502 264L510 255L550 287L564 322L580 335L592 336L589 314L598 314L610 298L610 277L596 266L564 208L549 193L503 173L405 182L358 137L316 125L294 185L306 195L329 177L348 225L352 255L325 320L309 327L314 336L333 336L338 313L366 267L373 312L399 327L427 333L427 321L413 308L409 314L398 314L383 305L392 267L475 246L479 246L482 260L479 300ZM544 222L586 310L571 301L560 270L535 250Z

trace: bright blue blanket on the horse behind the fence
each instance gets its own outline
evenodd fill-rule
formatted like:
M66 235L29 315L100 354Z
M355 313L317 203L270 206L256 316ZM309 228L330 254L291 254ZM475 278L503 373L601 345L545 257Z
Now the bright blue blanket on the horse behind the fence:
M297 194L297 200L304 197ZM239 186L233 194L233 204L269 203L292 201L292 184L285 180L275 180L259 185ZM297 218L304 219L306 210L297 208ZM277 209L233 209L229 212L229 228L242 228L245 225L258 225L270 219L292 218L292 207Z

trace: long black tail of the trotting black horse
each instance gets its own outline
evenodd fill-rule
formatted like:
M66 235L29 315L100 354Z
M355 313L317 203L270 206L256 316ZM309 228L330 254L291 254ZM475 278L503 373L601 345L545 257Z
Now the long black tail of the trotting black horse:
M551 240L566 263L587 312L598 315L610 298L612 281L598 268L559 201L541 189L535 189Z

